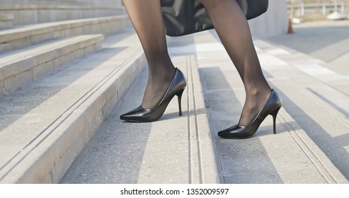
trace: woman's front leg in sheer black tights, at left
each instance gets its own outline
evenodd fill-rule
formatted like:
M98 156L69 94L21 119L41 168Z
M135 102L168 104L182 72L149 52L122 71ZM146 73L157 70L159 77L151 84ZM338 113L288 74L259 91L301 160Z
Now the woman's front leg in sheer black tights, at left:
M164 97L176 69L168 55L159 0L123 0L144 54L149 76L142 107L151 108Z

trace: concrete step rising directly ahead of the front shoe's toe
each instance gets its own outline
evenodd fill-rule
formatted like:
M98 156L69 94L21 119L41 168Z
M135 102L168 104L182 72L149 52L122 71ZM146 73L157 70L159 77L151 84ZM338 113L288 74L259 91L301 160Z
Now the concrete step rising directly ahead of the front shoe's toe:
M0 182L57 183L144 65L134 31L0 100Z

